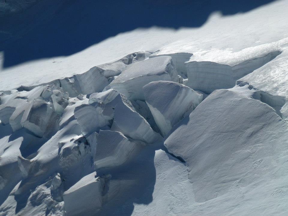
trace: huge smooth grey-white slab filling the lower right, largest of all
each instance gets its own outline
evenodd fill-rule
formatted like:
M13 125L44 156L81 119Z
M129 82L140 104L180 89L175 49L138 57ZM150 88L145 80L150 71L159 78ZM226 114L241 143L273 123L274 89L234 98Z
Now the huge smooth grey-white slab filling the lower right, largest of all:
M263 190L286 185L279 181L288 175L278 172L287 168L287 123L274 109L239 92L216 90L177 126L164 145L187 162L196 202L236 196L240 207L255 199L258 212L267 205L277 211L279 203ZM257 200L259 194L267 199ZM234 205L226 202L227 209L229 203Z

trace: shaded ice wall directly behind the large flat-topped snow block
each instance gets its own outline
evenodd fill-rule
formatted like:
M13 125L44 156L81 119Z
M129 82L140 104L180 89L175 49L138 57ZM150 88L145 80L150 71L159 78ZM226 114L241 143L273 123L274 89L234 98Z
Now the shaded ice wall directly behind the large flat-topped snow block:
M157 52L155 52L152 55L149 55L149 58L155 58L158 56L171 56L173 64L175 65L179 75L181 75L183 78L187 78L187 69L184 63L189 61L192 55L192 53L188 52L176 52L158 55Z

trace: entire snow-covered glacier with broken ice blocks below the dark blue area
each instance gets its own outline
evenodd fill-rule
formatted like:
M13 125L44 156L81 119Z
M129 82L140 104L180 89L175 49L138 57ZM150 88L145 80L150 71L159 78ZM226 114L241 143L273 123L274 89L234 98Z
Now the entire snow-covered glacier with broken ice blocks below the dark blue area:
M1 68L0 216L287 215L287 11Z

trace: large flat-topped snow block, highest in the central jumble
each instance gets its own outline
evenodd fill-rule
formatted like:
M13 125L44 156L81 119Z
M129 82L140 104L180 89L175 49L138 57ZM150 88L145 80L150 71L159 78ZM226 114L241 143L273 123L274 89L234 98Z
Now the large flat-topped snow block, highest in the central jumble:
M150 58L129 65L107 88L116 89L129 100L144 100L142 87L158 80L178 82L177 70L170 56Z

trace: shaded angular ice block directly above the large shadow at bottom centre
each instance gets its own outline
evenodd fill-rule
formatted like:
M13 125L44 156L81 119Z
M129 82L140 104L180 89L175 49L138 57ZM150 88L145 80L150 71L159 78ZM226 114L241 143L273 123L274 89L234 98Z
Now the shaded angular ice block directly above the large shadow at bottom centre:
M121 132L101 131L97 137L95 169L123 164L134 151L136 143L130 142Z

